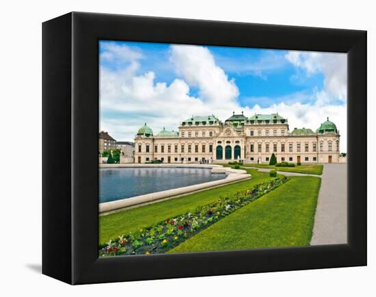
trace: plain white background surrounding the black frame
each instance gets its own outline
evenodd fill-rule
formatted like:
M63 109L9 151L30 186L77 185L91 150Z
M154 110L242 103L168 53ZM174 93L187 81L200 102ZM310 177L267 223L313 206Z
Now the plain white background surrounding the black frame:
M40 274L42 25L72 10L368 31L368 118L375 110L373 1L2 1L1 296L355 296L375 294L375 187L368 183L368 267L70 286ZM372 124L369 124L371 126ZM375 127L373 125L373 127ZM368 151L373 146L368 127ZM59 157L59 156L56 156ZM376 168L370 155L368 168ZM368 181L375 174L368 172ZM373 231L374 234L371 234Z

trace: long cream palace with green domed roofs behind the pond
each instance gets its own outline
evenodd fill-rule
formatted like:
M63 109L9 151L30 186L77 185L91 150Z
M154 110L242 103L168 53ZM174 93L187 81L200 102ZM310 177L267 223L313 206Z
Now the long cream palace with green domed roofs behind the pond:
M216 116L192 116L178 131L154 135L145 123L135 135L135 163L227 163L237 160L267 164L274 153L278 162L340 162L340 135L329 118L314 132L292 131L288 120L277 114L250 118L232 114L221 122Z

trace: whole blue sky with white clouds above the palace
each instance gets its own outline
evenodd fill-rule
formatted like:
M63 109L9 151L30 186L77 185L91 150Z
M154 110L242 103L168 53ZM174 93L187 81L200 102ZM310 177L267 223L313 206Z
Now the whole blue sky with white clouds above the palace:
M232 110L246 116L279 112L290 129L317 129L329 116L338 129L346 129L345 54L150 42L99 45L100 129L117 140L132 140L144 122L157 133L177 129L192 114L226 120Z

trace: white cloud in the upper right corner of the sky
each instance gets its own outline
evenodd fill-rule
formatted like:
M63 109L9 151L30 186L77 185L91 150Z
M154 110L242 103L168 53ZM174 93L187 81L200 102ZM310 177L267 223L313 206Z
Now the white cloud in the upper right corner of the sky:
M347 54L288 51L286 60L305 71L307 76L323 73L325 103L347 102Z

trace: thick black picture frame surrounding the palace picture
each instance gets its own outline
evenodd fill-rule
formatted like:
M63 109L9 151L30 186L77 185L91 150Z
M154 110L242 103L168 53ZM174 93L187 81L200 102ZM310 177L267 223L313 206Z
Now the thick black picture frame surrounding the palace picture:
M42 35L43 274L85 284L366 265L366 31L71 12ZM347 53L348 243L98 258L98 40Z

